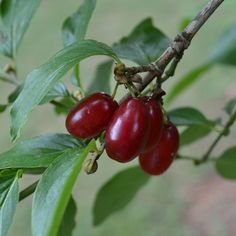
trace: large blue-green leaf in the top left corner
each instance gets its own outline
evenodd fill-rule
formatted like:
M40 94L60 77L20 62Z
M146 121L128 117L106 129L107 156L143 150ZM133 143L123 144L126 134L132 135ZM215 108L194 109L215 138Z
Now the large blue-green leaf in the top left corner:
M0 5L0 52L15 57L40 0L2 0Z

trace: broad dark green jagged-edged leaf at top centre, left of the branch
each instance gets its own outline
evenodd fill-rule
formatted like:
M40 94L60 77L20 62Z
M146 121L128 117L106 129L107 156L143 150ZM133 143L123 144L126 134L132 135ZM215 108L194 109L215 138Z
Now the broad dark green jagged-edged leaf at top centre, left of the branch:
M128 37L114 44L113 49L120 58L144 65L155 61L169 44L170 39L153 26L151 18L147 18Z

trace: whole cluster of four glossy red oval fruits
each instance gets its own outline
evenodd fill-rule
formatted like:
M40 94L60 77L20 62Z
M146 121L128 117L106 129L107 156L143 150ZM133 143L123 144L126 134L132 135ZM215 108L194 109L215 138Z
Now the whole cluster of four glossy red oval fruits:
M110 158L129 162L139 156L141 168L151 175L165 172L179 147L177 128L164 121L159 103L150 97L129 97L118 105L110 95L95 93L71 110L66 128L85 139L105 130Z

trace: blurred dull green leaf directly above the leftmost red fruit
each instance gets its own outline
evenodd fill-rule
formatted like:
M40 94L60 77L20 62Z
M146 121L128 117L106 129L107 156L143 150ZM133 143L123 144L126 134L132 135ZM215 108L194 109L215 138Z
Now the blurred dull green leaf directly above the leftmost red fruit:
M95 77L88 88L88 94L93 92L103 91L110 93L110 77L112 70L112 61L106 61L101 63L95 72Z

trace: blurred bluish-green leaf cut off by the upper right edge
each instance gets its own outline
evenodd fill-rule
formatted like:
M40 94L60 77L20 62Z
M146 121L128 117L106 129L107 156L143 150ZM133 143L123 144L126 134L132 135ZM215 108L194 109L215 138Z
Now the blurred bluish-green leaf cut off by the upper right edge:
M208 61L236 65L236 23L231 25L216 41Z

